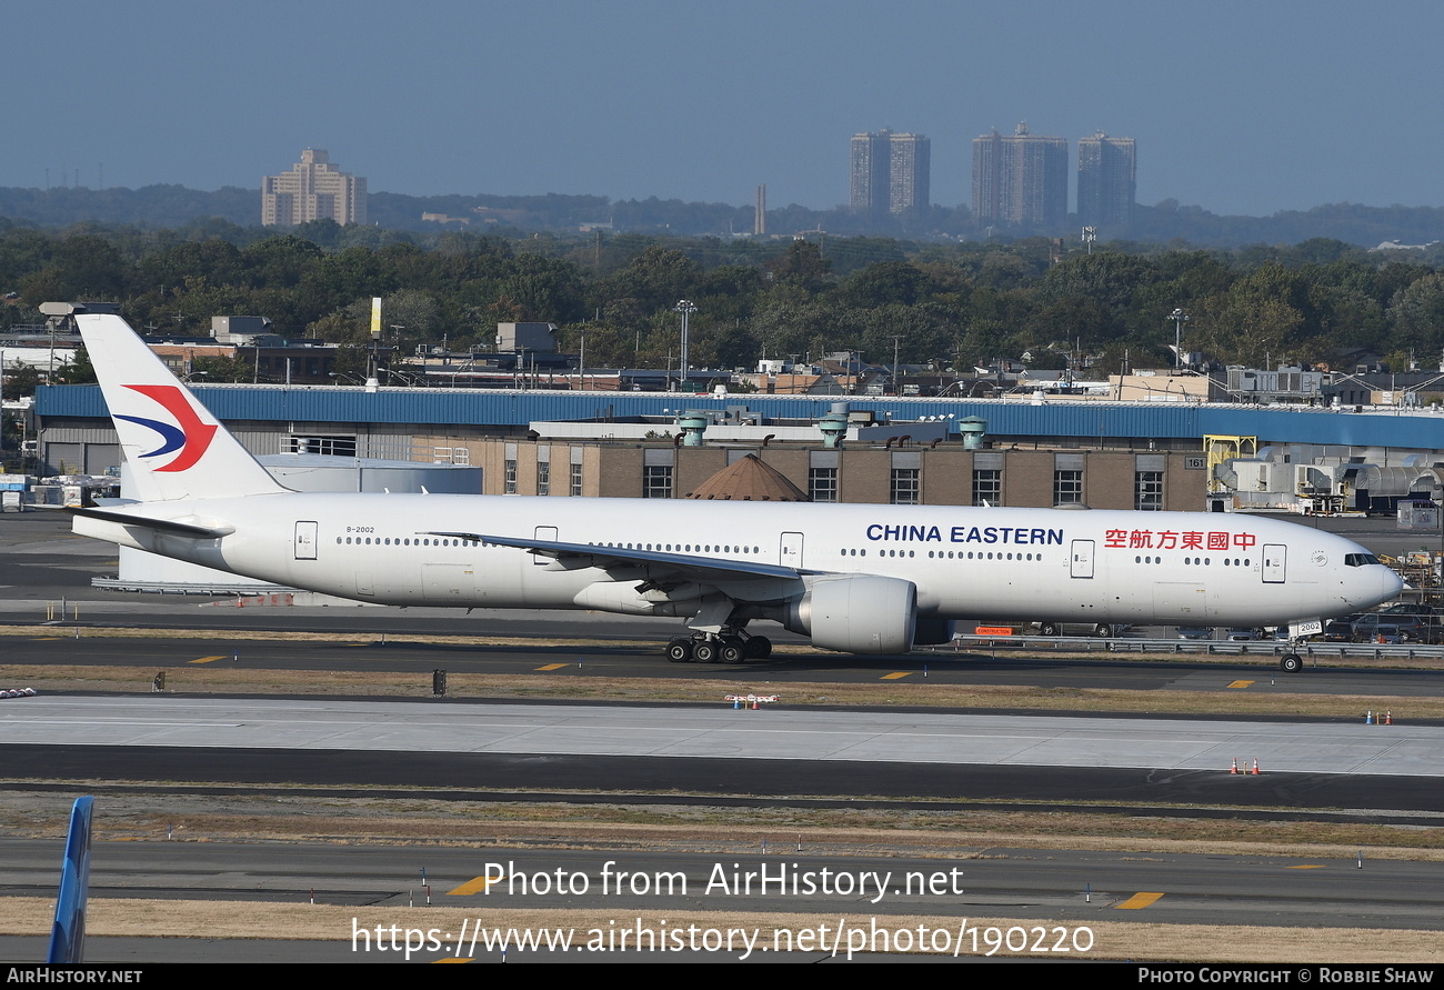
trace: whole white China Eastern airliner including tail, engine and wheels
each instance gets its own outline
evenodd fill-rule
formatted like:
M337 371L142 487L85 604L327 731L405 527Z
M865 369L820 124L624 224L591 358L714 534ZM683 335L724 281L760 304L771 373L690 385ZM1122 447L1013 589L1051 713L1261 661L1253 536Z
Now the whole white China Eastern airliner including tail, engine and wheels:
M1401 590L1357 543L1252 516L290 491L120 317L77 321L137 499L75 532L342 598L673 616L673 660L739 662L771 649L751 620L901 653L957 619L1274 626Z

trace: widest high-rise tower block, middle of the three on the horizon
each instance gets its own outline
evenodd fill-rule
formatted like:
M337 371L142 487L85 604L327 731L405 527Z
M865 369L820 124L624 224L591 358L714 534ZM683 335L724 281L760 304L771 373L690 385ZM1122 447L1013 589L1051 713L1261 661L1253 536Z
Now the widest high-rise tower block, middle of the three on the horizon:
M973 139L973 215L985 223L1056 228L1069 215L1069 140L996 130Z

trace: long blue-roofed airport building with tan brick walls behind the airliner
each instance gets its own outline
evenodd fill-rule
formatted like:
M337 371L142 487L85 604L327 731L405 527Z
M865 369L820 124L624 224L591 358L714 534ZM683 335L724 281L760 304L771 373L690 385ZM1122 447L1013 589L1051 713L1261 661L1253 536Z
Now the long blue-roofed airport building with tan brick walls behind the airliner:
M684 497L747 454L817 502L1284 507L1245 490L1262 487L1258 473L1238 484L1227 468L1239 461L1328 464L1354 481L1367 468L1398 475L1399 494L1444 493L1444 412L1435 408L277 384L195 392L254 454L465 464L482 468L485 494ZM826 439L829 416L846 423L833 431L845 436L839 445ZM42 386L35 421L42 474L118 465L98 386ZM1294 475L1274 484L1292 487Z

